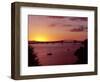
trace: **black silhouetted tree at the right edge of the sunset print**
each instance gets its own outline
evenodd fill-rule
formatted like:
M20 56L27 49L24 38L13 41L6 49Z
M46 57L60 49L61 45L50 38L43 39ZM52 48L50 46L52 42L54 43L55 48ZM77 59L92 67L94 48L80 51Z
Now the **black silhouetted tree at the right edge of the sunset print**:
M76 64L87 64L88 63L88 43L87 40L82 42L83 47L80 47L75 55L78 57Z

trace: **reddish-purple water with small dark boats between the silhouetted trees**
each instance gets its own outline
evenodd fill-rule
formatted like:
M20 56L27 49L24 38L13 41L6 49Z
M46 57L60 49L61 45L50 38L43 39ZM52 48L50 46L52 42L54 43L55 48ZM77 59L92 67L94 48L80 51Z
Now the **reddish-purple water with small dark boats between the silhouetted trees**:
M74 64L78 58L75 51L81 43L38 43L30 44L34 48L41 65Z

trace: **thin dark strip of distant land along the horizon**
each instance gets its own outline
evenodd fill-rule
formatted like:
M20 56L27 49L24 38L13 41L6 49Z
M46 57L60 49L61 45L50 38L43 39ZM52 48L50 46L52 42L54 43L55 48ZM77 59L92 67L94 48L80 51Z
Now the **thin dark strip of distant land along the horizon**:
M28 41L29 44L36 44L36 43L82 43L83 41L78 41L78 40L60 40L60 41Z

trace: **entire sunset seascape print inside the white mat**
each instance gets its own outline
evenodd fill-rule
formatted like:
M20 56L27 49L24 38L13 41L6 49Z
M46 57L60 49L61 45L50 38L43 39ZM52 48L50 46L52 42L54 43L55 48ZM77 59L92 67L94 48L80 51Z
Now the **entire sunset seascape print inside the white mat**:
M29 67L88 63L88 17L28 15L27 38Z

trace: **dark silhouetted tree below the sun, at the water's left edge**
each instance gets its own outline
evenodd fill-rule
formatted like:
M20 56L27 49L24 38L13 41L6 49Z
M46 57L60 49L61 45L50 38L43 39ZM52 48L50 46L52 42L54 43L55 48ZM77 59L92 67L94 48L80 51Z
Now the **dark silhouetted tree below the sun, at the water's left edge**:
M39 66L39 60L37 58L36 53L34 52L34 48L29 45L28 46L28 66Z

